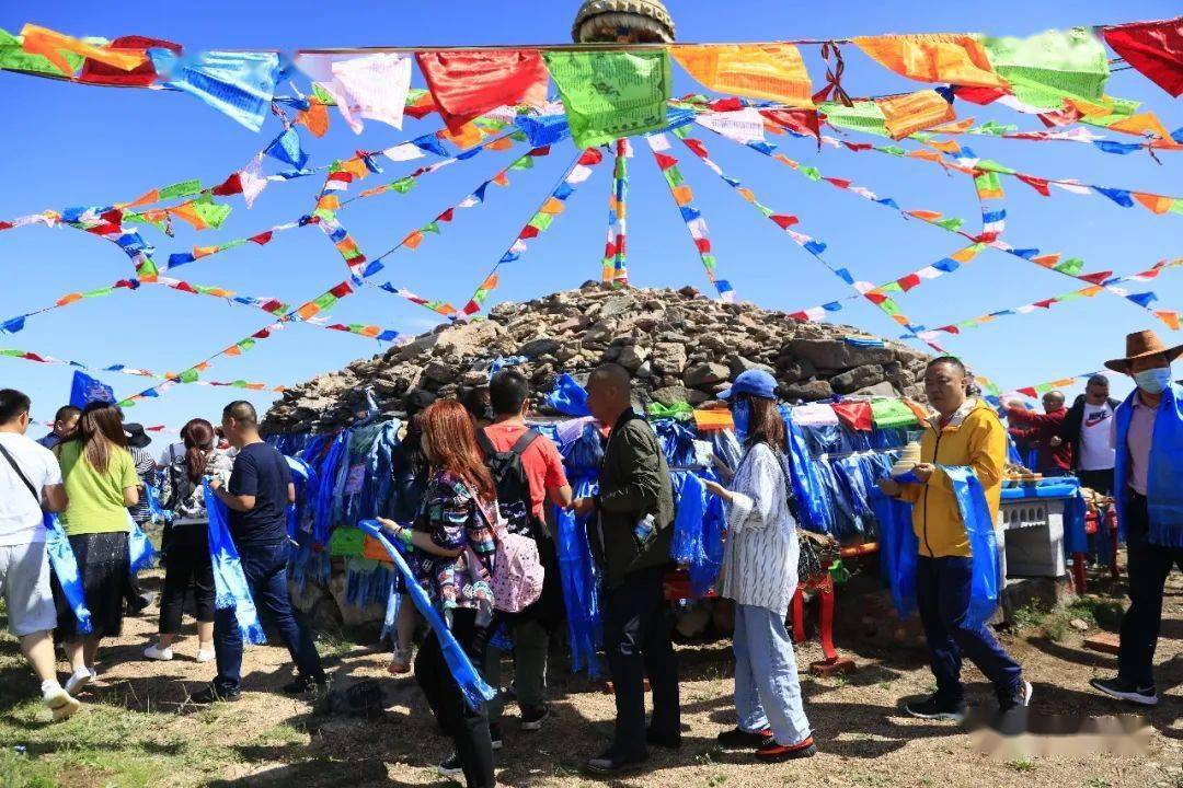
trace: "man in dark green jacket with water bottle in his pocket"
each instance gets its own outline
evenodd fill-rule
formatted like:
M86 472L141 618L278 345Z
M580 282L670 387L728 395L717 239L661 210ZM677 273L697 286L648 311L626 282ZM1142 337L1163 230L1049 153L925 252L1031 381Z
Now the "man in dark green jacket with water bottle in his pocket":
M628 371L607 364L588 382L588 409L613 425L600 468L600 494L574 503L590 514L588 540L603 569L603 645L616 693L612 745L586 768L599 775L635 771L647 745L681 745L678 665L670 642L661 581L670 568L674 517L670 465L657 436L632 406ZM653 723L645 728L645 676Z

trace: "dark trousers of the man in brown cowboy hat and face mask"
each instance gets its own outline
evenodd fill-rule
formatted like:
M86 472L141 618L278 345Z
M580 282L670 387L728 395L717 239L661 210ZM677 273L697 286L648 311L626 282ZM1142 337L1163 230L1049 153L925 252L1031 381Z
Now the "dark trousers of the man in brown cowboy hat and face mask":
M1150 517L1146 497L1127 491L1125 539L1129 555L1130 610L1121 619L1121 653L1118 676L1140 689L1153 686L1155 649L1163 621L1163 588L1171 568L1183 569L1183 548L1161 547L1146 541Z

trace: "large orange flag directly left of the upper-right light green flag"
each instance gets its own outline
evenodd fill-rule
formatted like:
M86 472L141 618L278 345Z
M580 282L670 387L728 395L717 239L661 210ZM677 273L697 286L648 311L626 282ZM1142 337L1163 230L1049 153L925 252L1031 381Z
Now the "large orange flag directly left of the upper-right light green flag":
M972 87L1006 87L985 48L972 35L871 35L854 45L883 66L920 82Z

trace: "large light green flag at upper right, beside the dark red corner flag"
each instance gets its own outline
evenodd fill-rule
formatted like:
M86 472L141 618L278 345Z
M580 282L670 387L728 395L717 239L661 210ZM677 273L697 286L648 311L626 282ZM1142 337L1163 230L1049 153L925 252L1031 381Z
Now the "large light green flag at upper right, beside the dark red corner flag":
M990 65L1023 104L1058 110L1066 97L1098 100L1108 80L1105 47L1084 27L1029 38L987 38Z

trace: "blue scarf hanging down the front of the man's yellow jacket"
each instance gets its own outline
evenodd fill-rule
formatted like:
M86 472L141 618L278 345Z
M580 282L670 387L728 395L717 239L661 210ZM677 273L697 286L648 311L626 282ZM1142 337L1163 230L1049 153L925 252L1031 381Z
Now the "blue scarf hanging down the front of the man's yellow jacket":
M985 502L985 490L969 465L938 465L952 483L957 510L969 535L970 567L969 611L967 626L976 629L994 618L998 606L1001 567L998 545L994 535L994 517Z

